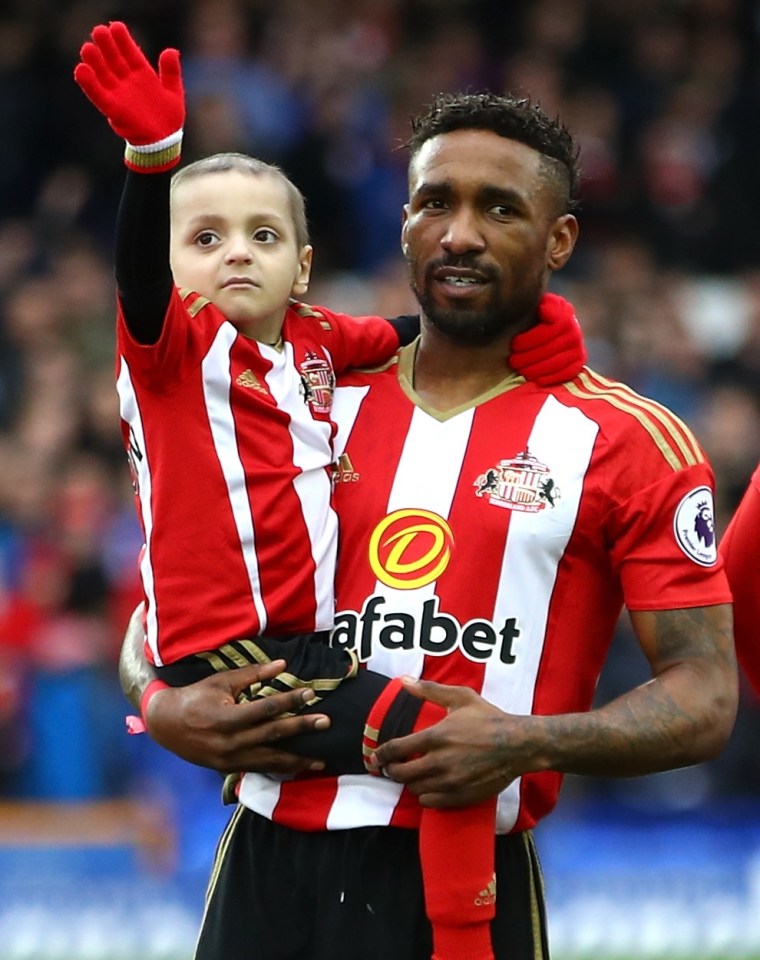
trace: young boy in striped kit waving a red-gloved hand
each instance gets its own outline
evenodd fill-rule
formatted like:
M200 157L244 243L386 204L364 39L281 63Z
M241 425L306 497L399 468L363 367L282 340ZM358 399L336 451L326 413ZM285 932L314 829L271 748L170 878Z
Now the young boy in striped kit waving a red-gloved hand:
M96 27L81 57L77 82L127 141L117 384L145 533L149 659L173 685L286 660L287 672L249 696L294 686L329 694L319 710L333 723L319 755L328 771L364 772L363 754L379 740L443 711L327 645L337 542L331 402L336 374L389 360L416 330L410 318L394 329L294 300L306 292L312 249L303 198L276 167L223 154L172 179L185 116L177 51L161 54L156 73L116 22ZM548 295L544 309L553 325L538 339L536 328L523 335L525 356L545 365L555 331L569 330L570 376L583 362L572 311ZM314 749L297 740L288 749ZM457 870L471 873L476 892L493 876L494 803L461 812L468 849ZM451 815L421 818L424 865L426 844L452 842ZM431 916L446 930L436 955L492 957L490 915L452 897Z

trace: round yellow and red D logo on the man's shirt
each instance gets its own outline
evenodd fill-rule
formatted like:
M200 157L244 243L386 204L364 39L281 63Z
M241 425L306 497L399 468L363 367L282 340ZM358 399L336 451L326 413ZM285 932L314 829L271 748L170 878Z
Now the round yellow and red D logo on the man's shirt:
M437 580L449 565L451 527L429 510L395 510L369 540L369 563L381 583L416 590Z

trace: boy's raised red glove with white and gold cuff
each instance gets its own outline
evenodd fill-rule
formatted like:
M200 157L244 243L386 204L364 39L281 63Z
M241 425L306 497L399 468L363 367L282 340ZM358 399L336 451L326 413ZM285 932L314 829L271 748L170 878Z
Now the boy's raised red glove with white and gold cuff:
M158 73L125 24L98 26L80 51L74 79L127 141L131 170L159 173L179 163L185 122L185 91L179 51L164 50Z

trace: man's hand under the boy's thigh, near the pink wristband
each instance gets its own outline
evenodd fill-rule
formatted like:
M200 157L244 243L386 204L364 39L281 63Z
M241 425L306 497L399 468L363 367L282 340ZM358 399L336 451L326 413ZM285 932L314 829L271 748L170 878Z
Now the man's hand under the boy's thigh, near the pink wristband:
M154 694L146 720L153 739L183 760L221 773L255 770L295 774L317 771L324 764L277 750L275 744L309 730L330 725L323 714L283 716L300 710L310 690L294 690L261 700L237 703L246 687L276 676L282 661L214 674L186 687L169 687Z

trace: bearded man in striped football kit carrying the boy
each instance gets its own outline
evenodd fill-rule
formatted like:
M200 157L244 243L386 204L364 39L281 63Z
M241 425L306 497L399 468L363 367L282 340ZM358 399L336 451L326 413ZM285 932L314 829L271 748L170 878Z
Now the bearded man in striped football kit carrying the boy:
M442 810L497 798L494 954L548 957L530 829L562 775L696 763L733 725L730 593L698 522L713 478L693 435L586 369L550 387L504 375L513 336L575 245L569 133L527 101L441 97L415 122L410 151L402 246L422 332L337 390L333 643L407 675L405 688L447 716L380 746L384 777L247 774L199 960L246 943L262 958L427 960L410 797ZM652 680L592 710L623 605ZM247 671L245 681L261 673ZM217 768L307 768L277 738L318 718L272 720L291 694L256 714L235 705L241 678L161 691L151 732ZM262 723L246 733L252 717ZM220 734L233 743L224 755ZM442 850L441 866L466 856ZM480 892L484 908L494 892Z

